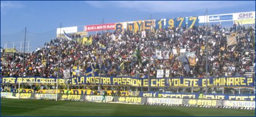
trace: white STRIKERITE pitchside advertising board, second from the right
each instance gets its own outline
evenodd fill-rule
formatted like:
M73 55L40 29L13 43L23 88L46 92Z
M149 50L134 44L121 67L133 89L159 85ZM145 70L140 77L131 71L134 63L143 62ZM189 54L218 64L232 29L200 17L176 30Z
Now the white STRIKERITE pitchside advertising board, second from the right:
M179 98L147 98L147 103L182 104L183 99L179 99Z

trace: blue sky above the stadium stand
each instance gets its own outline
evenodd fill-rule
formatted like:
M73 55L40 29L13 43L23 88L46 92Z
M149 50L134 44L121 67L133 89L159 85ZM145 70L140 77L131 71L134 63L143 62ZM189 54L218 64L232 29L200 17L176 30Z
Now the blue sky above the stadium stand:
M85 26L100 24L102 18L115 23L149 19L150 14L152 19L201 16L206 8L209 14L248 12L255 11L255 1L1 1L1 35L21 32L24 27L32 33L56 34L60 23L62 27ZM38 46L48 40L32 43ZM6 41L1 36L1 47Z

